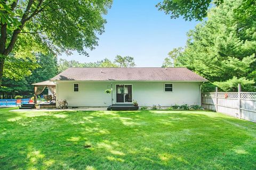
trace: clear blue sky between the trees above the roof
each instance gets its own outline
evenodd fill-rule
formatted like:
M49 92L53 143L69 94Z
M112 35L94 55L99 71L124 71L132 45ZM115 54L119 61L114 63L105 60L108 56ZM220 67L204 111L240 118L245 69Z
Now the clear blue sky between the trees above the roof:
M105 33L99 36L99 46L87 50L90 57L79 55L59 58L79 62L95 62L116 55L134 57L137 67L160 67L173 48L186 44L188 30L198 22L171 19L155 5L161 0L114 0L105 16Z

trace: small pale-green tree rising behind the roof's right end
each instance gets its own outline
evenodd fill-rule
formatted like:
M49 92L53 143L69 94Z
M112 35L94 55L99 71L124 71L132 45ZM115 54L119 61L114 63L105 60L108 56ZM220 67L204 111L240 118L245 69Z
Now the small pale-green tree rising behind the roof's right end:
M174 67L178 66L177 58L182 55L182 47L173 48L171 52L168 53L168 57L164 58L164 63L162 67Z

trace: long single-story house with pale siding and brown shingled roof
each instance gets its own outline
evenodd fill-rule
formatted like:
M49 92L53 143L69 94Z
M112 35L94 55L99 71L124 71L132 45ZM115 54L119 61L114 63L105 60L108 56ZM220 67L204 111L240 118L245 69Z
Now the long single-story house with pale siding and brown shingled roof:
M132 67L69 68L51 81L56 99L66 99L68 106L106 107L137 100L139 106L167 107L200 105L201 84L207 80L186 68Z

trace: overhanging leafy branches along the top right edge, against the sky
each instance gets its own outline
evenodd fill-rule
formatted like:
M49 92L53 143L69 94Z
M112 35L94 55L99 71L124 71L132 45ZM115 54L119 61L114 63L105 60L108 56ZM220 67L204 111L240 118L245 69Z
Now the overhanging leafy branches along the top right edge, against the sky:
M164 11L166 14L171 14L172 19L179 18L183 16L185 20L203 20L207 16L207 10L212 6L219 6L224 2L224 0L163 0L163 2L158 3L156 7L158 10ZM236 14L241 18L244 15L253 15L256 11L256 1L254 0L244 0L243 3L236 9Z

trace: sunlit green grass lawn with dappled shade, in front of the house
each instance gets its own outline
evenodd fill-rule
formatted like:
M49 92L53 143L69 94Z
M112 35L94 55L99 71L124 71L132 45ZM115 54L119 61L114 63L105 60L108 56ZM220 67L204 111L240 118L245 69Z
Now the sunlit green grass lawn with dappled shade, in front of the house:
M256 169L256 124L219 113L11 109L0 169Z

